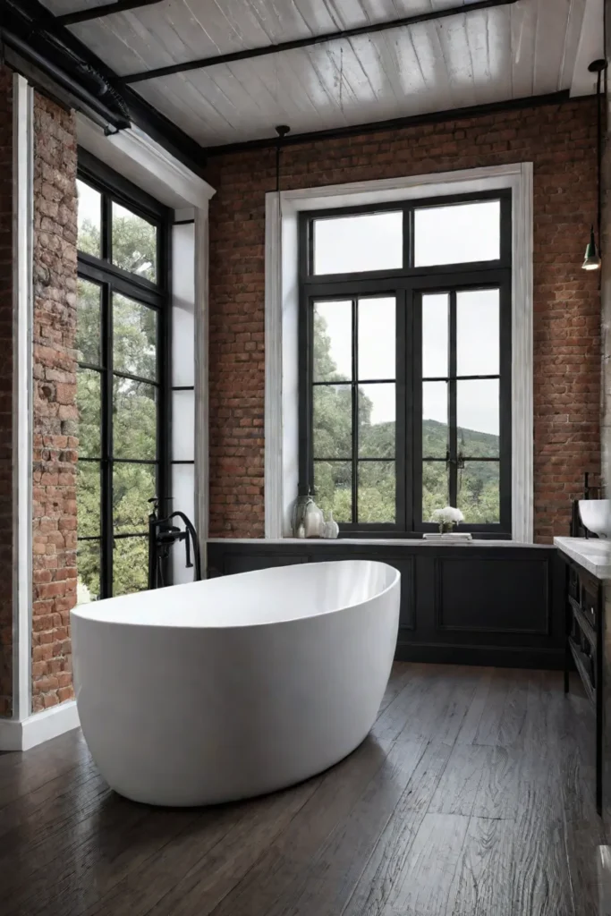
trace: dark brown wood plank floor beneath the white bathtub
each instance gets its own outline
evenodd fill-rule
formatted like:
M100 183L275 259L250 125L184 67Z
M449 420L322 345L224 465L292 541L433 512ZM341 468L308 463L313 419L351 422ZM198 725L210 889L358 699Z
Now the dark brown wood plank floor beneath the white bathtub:
M78 731L0 756L3 916L593 916L603 842L552 672L398 663L351 757L212 809L120 798Z

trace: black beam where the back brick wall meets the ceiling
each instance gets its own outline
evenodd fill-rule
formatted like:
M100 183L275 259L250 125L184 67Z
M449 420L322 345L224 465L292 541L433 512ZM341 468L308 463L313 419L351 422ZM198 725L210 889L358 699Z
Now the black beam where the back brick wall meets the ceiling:
M481 105L470 105L467 108L448 108L441 112L427 114L410 114L406 117L392 118L389 121L371 121L367 124L332 127L329 130L311 131L308 134L290 134L282 140L282 146L295 146L301 143L317 143L322 140L333 140L344 136L376 134L389 130L400 130L405 127L417 127L423 124L441 124L443 121L459 121L464 118L482 117L485 114L497 114L504 111L519 111L524 108L539 108L542 105L564 104L566 102L587 102L592 95L580 95L571 98L568 89L559 93L546 95L529 95L522 99L508 99L505 102L489 102ZM224 156L227 153L242 153L256 149L272 149L278 144L278 138L265 137L260 140L244 140L241 143L227 143L218 147L206 147L206 158Z

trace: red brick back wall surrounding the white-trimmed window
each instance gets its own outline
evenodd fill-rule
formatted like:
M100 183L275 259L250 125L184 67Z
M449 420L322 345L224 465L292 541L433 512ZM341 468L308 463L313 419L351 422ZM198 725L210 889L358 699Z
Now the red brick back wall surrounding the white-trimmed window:
M580 269L595 218L593 100L414 125L287 147L296 189L534 163L535 529L568 530L584 471L600 470L597 274ZM210 413L212 536L264 531L265 194L273 149L211 159Z

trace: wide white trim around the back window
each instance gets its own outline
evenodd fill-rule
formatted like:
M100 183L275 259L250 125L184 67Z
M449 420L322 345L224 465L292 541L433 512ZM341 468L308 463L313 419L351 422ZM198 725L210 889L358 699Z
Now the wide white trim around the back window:
M265 532L289 537L299 475L298 217L309 210L512 191L512 540L533 541L532 163L266 195Z

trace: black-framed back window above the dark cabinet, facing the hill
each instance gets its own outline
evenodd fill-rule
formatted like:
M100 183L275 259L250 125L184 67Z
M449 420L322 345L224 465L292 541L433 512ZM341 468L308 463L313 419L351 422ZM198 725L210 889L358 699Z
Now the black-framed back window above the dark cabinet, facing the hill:
M300 493L345 535L511 537L511 191L300 216Z

